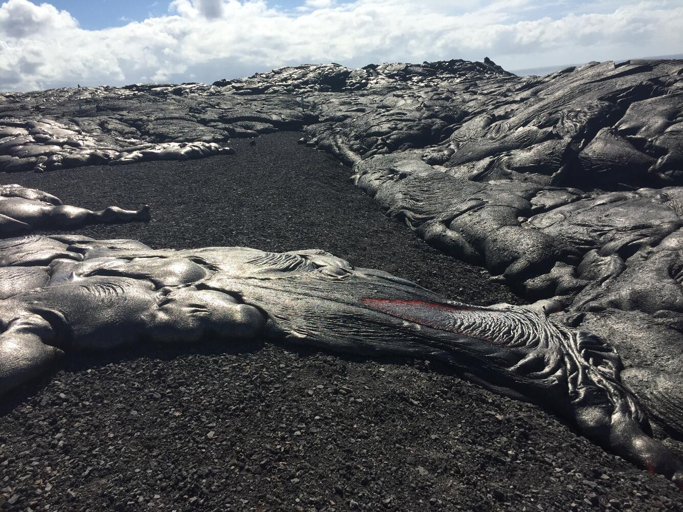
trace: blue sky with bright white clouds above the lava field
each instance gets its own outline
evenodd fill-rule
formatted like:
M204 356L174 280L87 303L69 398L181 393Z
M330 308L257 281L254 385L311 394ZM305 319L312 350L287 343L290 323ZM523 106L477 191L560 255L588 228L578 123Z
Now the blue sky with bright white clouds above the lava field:
M683 0L0 0L0 91L300 63L623 60L683 53L682 20Z

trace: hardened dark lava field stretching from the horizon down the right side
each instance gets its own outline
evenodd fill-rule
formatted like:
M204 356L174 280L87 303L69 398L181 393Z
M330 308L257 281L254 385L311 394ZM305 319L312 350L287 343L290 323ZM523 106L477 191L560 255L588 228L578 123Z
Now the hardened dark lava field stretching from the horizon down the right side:
M680 439L682 111L676 60L523 78L490 61L298 66L4 94L0 168L203 156L229 137L302 129L418 236L607 339L626 387Z

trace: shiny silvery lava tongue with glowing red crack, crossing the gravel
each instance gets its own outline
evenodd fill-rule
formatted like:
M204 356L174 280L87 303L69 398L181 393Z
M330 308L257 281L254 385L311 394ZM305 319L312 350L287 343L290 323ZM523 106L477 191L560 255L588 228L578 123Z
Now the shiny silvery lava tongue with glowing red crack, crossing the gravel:
M647 436L617 353L549 322L542 306L450 302L319 250L152 250L81 236L2 242L0 393L59 355L143 342L283 339L334 352L442 360L534 399L587 437L683 485L683 463Z

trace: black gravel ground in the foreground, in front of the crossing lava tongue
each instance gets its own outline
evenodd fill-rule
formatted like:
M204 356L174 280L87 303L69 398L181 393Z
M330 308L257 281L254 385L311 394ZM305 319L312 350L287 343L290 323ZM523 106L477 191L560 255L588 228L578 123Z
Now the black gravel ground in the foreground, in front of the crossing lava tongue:
M440 369L265 345L66 362L0 418L8 511L661 511L680 492ZM111 361L114 362L111 362Z

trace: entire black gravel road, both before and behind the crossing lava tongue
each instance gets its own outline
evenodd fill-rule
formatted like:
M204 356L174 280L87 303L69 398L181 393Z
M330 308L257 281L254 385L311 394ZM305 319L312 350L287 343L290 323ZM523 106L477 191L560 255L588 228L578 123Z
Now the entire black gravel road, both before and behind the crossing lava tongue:
M320 247L467 302L518 301L385 218L349 170L272 134L236 156L0 175L154 247ZM423 361L281 345L141 346L68 358L0 406L0 510L660 511L683 498L535 406Z

